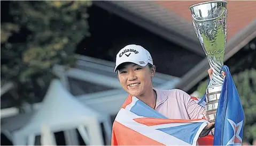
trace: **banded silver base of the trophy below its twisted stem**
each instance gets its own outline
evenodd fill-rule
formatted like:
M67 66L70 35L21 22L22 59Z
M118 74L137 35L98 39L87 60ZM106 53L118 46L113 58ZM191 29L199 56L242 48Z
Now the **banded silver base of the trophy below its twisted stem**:
M222 85L216 85L206 89L206 116L209 122L215 122L221 90Z

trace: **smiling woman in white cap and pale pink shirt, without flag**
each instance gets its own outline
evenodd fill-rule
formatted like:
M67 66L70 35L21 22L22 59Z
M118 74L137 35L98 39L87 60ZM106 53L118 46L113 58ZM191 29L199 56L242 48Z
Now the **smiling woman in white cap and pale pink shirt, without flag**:
M148 50L128 45L117 54L114 71L129 95L136 97L169 119L201 119L206 109L198 105L188 93L179 90L158 90L152 87L156 66ZM212 70L208 70L211 77ZM208 124L200 136L208 135L214 123Z

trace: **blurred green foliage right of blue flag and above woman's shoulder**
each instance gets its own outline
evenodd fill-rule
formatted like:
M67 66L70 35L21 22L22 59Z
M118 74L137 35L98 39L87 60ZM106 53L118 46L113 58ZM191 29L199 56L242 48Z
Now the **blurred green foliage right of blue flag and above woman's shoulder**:
M245 141L252 142L256 139L256 70L251 68L238 74L232 75L239 97L241 99L245 120L244 135ZM204 95L208 80L201 82L197 91Z

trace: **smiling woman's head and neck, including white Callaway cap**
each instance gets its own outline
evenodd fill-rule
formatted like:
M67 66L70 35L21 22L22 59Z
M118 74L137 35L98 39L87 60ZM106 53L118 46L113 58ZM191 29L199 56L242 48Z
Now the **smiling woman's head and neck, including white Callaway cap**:
M138 45L122 48L117 54L114 71L118 71L122 88L130 95L139 98L152 108L156 106L157 95L151 80L156 73L156 66L153 65L148 50Z

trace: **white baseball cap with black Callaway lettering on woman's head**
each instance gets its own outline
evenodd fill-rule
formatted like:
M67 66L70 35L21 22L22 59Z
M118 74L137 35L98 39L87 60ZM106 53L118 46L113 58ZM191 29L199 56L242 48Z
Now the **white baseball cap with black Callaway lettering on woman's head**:
M153 65L153 59L149 51L139 45L127 45L118 52L115 59L114 72L116 72L120 64L125 62L135 63L140 66L146 66L148 63Z

